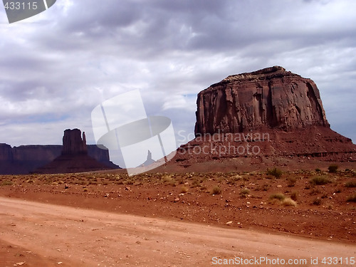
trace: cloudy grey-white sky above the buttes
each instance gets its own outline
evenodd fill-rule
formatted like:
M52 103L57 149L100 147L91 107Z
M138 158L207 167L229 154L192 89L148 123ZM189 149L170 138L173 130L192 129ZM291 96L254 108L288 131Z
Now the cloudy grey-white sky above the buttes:
M93 144L93 108L134 89L189 135L200 90L276 65L313 79L355 142L354 0L57 0L11 24L1 6L0 142L61 144L78 127Z

